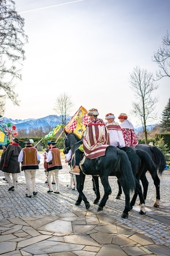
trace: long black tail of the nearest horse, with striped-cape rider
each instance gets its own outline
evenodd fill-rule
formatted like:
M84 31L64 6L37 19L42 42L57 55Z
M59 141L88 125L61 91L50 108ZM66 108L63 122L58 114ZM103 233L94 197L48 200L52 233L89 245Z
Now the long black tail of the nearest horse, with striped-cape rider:
M119 150L118 152L119 156L119 168L123 172L123 177L127 181L126 185L128 186L127 189L129 189L131 192L134 192L136 185L135 185L135 176L132 171L131 163L128 159L127 154Z

